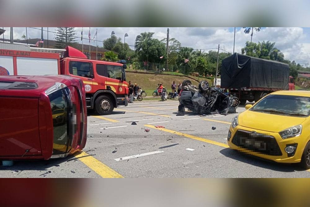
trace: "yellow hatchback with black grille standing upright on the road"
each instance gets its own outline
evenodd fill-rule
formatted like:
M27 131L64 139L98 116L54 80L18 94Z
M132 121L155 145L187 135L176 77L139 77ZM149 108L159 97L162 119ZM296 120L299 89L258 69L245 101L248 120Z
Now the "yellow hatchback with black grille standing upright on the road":
M232 119L228 146L310 169L310 91L277 91Z

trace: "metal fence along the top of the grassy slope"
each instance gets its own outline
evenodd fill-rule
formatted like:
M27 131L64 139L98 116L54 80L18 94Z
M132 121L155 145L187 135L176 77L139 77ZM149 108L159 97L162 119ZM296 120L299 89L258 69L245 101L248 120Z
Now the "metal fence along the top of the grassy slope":
M168 65L166 68L166 63L152 63L148 62L145 64L144 62L128 62L127 68L137 70L137 71L144 71L144 72L155 72L155 73L162 73L165 72L179 72L183 74L188 74L191 72L191 68L188 65Z

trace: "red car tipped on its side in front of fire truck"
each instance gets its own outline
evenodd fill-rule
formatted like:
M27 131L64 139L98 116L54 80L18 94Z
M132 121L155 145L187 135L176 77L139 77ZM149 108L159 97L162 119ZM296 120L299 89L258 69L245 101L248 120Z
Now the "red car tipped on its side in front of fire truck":
M78 78L0 76L0 114L0 160L47 160L85 147L85 88Z

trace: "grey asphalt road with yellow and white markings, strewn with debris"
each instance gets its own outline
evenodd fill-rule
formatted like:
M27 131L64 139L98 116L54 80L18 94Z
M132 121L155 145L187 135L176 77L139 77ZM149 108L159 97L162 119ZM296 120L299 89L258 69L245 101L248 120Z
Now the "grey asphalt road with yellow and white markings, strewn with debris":
M141 101L119 107L108 116L89 113L82 154L16 161L11 167L0 167L1 177L310 177L310 171L297 164L268 162L227 148L234 114L199 116L186 111L185 116L175 116L178 103ZM244 106L237 108L244 110Z

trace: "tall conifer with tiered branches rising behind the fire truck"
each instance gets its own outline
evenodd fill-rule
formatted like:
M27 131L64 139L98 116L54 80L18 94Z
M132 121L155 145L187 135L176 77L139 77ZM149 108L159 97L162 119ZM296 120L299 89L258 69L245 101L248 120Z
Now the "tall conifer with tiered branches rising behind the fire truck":
M57 27L56 48L65 48L67 45L73 46L77 44L75 27Z

